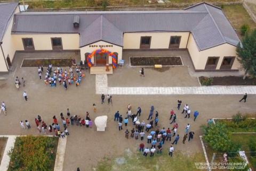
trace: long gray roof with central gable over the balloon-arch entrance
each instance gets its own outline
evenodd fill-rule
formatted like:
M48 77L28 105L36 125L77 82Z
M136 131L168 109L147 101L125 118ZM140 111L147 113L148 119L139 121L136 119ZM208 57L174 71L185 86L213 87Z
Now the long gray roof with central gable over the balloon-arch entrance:
M79 28L73 19L79 15ZM201 3L185 10L108 12L25 12L15 15L13 33L80 33L80 46L103 40L123 46L124 32L187 31L199 50L239 38L221 9Z

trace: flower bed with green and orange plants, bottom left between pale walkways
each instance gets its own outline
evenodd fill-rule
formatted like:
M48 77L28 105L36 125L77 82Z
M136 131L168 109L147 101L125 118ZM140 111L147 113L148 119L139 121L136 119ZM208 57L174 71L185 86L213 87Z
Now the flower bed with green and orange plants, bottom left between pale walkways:
M58 138L50 136L20 136L9 152L8 170L53 170Z

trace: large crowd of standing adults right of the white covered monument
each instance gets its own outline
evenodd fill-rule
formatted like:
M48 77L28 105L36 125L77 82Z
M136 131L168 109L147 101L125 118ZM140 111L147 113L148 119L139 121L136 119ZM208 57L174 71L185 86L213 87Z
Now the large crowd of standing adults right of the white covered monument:
M180 109L181 103L182 101L178 100L178 106L177 106L178 110ZM153 157L155 152L162 153L162 148L164 144L167 144L168 141L171 142L173 139L171 144L174 145L174 144L177 144L180 139L180 135L178 134L179 124L176 123L177 115L174 112L174 110L172 109L170 112L170 120L172 120L170 124L174 123L172 125L172 129L170 129L170 126L168 126L167 129L165 129L165 127L160 129L157 126L159 121L159 113L157 111L155 112L154 111L155 111L155 107L154 105L151 105L149 108L149 115L147 118L148 122L145 122L143 120L140 121L139 119L142 113L141 107L137 108L136 114L135 112L132 113L131 104L127 105L127 112L125 117L119 114L119 111L117 111L114 115L114 121L118 122L119 131L123 130L123 123L126 127L130 123L129 119L131 120L133 128L131 131L129 131L128 129L124 129L125 138L129 139L130 137L135 140L140 139L142 142L140 143L139 150L143 152L143 156L145 157L148 155L148 153L150 153L150 157ZM185 118L187 118L187 116L188 118L190 118L190 109L187 104L185 105L182 111L182 114L184 113L185 113ZM194 121L198 115L199 115L199 112L195 110ZM185 126L182 143L185 143L187 139L188 141L193 139L194 134L195 133L193 131L190 131L190 124L188 123ZM143 142L143 140L145 139L146 139L145 143L148 145L150 144L150 146L146 148L145 148L145 143ZM169 149L169 155L171 157L174 152L174 147L172 145L170 146L170 149Z

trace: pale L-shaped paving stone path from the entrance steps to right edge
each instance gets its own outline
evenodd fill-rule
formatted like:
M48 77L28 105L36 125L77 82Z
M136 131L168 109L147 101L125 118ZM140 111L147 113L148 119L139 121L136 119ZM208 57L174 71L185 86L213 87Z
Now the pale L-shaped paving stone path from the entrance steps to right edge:
M107 74L97 74L96 94L110 95L243 95L256 94L256 86L108 87Z

